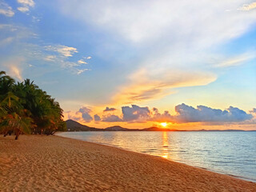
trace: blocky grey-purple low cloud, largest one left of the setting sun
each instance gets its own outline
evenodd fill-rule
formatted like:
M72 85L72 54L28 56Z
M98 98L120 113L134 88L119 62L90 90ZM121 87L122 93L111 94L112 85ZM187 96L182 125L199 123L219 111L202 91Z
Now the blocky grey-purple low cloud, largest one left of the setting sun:
M124 122L145 122L150 118L150 110L148 107L140 107L136 105L122 106L122 120Z

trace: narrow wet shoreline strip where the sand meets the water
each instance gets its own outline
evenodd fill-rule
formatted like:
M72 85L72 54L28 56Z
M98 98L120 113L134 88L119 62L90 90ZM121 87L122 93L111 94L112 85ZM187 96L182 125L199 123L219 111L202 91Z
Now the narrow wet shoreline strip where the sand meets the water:
M79 132L79 131L77 131ZM83 132L83 131L81 131ZM69 138L69 137L65 137L63 135L61 135L62 133L67 133L65 131L63 132L56 132L54 133L55 136L57 137L62 137L62 138ZM75 140L78 140L78 141L82 141L82 142L88 142L88 141L85 141L85 140L81 140L81 139L78 139L78 138L71 138L71 139L75 139ZM134 150L129 150L129 149L124 149L122 147L119 147L119 146L112 146L108 143L99 143L99 142L90 142L92 144L98 144L98 145L101 145L101 146L110 146L110 147L114 147L114 148L117 148L117 149L120 149L120 150L126 150L126 151L131 151L131 152L134 152L134 153L138 153L138 154L146 154L146 153L142 153L142 152L139 152L139 151L134 151ZM147 154L147 155L150 155L150 156L153 156L153 157L157 157L157 158L162 158L161 156L158 156L158 155L154 155L154 154ZM256 179L254 178L246 178L246 177L242 177L242 176L238 176L238 175L234 175L234 174L229 174L229 173L226 173L224 171L221 171L221 170L210 170L206 167L202 167L202 166L194 166L194 165L190 165L189 163L186 163L186 162L182 162L182 161L174 161L174 160L170 160L168 158L163 158L163 159L166 159L167 161L170 161L170 162L178 162L178 163L182 163L186 166L193 166L194 168L198 168L198 169L202 169L202 170L208 170L210 172L213 172L213 173L217 173L217 174L224 174L224 175L227 175L227 176L230 176L230 177L233 177L233 178L239 178L239 179L242 179L244 181L247 181L247 182L255 182L256 183Z

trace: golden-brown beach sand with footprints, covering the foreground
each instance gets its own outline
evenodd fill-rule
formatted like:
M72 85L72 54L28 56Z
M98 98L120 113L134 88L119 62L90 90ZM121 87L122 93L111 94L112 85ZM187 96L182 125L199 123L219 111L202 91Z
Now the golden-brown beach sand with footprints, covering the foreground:
M0 135L0 191L256 191L256 183L58 136Z

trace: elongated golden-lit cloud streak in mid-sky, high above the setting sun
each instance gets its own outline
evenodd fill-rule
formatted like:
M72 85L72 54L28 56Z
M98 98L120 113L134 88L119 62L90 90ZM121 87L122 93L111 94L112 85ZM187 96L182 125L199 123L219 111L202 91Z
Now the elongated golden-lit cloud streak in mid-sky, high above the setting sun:
M114 103L145 102L174 94L177 87L205 86L214 82L216 76L200 71L166 70L150 74L142 69L130 75L130 81L114 95Z

